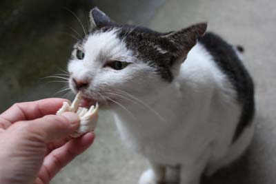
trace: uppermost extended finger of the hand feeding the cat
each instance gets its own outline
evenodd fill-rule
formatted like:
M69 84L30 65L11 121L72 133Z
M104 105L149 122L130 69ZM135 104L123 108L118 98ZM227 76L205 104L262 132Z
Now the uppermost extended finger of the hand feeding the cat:
M17 121L38 119L48 114L55 114L57 110L61 108L63 101L68 100L52 98L15 103L0 115L0 127L6 129L12 123Z

